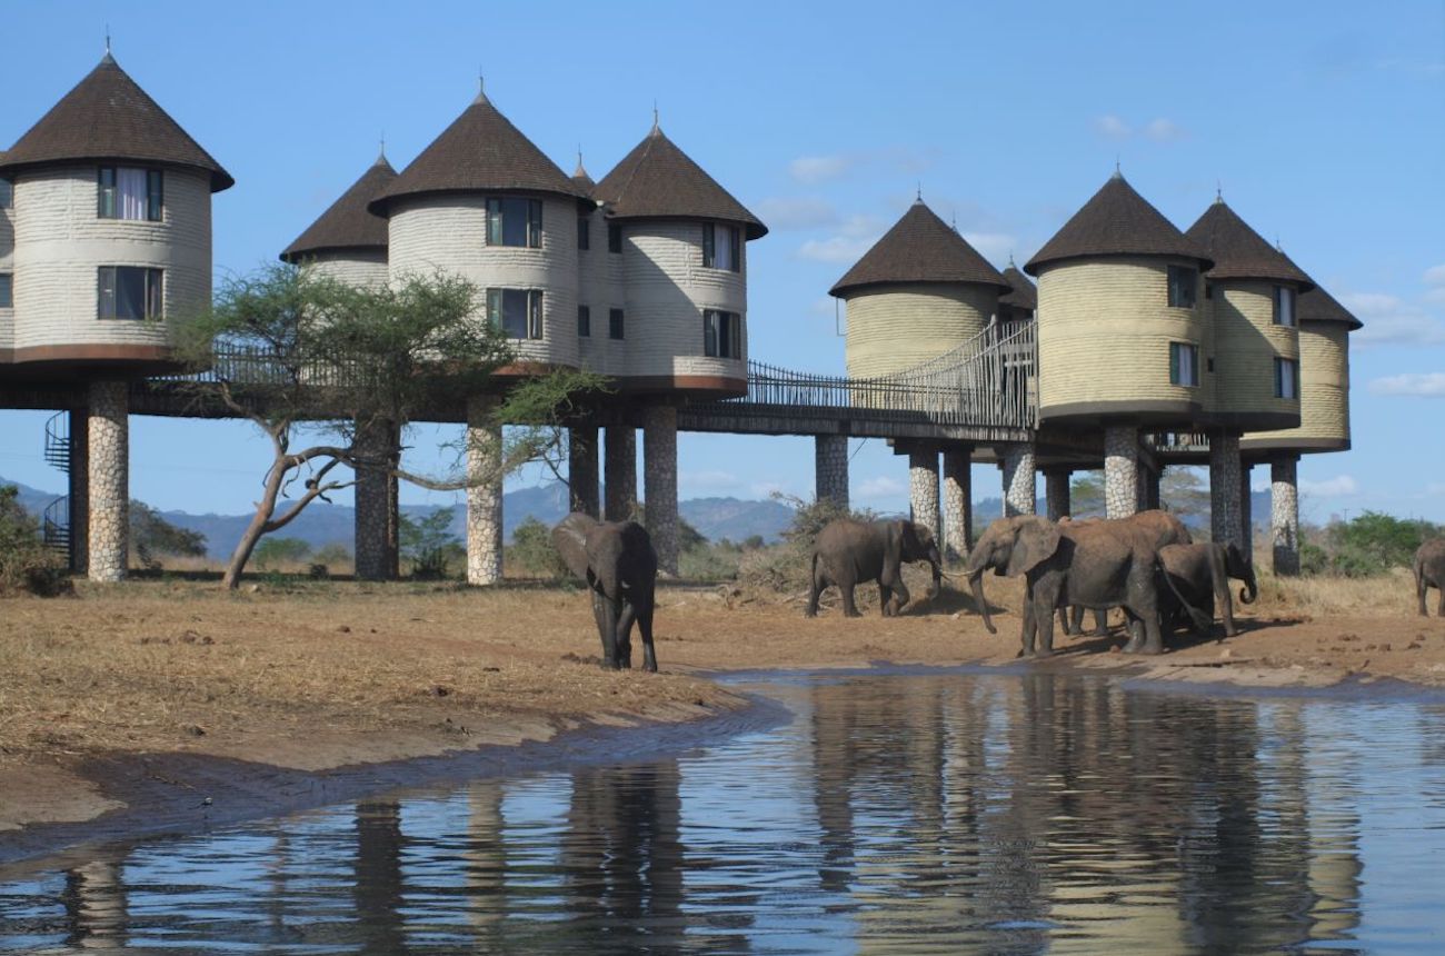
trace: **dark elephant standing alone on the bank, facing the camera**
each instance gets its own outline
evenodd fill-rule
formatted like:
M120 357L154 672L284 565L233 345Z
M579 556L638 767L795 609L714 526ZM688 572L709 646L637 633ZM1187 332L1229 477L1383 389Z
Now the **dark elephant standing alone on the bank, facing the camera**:
M631 627L642 634L643 670L657 670L652 646L657 553L636 521L598 521L574 511L552 529L552 543L568 570L587 582L603 638L603 667L631 667Z

